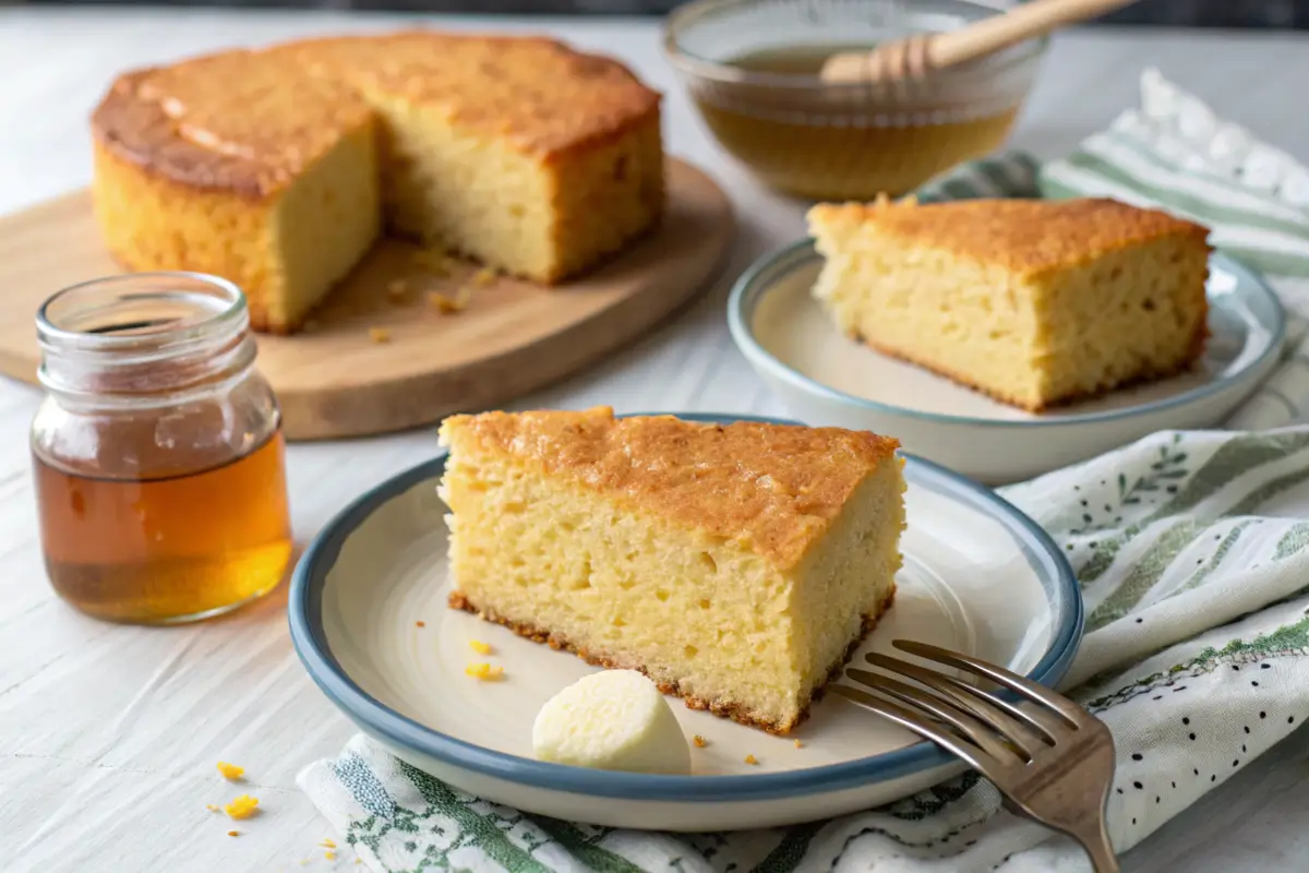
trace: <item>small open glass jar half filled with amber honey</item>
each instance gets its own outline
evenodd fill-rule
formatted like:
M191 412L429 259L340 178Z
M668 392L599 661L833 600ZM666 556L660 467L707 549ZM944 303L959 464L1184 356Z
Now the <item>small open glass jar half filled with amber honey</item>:
M278 403L245 298L199 274L137 274L37 315L31 428L46 571L97 618L219 615L276 588L292 552Z

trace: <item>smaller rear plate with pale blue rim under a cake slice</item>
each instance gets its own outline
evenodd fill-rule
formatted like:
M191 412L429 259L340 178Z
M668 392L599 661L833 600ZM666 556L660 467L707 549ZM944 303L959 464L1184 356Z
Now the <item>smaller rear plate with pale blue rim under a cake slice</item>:
M822 258L809 241L737 283L732 336L793 415L889 433L908 452L988 483L1014 482L1168 428L1217 424L1278 361L1276 296L1241 264L1210 264L1210 342L1175 378L1031 414L843 336L812 297Z

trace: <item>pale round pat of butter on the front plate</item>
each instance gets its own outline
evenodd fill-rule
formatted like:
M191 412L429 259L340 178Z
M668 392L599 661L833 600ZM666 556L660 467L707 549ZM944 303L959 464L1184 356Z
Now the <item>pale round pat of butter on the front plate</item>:
M691 772L691 750L654 683L635 670L603 670L572 683L537 713L541 760L639 774Z

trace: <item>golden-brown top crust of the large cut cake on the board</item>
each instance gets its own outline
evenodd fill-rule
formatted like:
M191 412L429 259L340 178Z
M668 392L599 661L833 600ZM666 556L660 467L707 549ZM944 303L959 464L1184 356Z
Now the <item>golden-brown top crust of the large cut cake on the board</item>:
M552 39L410 30L127 73L92 128L118 157L168 178L264 196L365 123L369 97L436 109L546 160L624 134L660 101L618 62Z

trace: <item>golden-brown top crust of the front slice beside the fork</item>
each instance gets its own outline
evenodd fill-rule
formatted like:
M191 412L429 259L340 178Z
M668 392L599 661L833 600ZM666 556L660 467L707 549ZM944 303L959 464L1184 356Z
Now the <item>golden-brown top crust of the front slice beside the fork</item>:
M780 567L804 558L859 483L899 446L838 428L618 419L609 407L456 415L441 424L441 438L459 446L471 438L478 450L624 497Z

